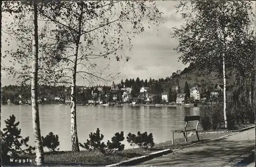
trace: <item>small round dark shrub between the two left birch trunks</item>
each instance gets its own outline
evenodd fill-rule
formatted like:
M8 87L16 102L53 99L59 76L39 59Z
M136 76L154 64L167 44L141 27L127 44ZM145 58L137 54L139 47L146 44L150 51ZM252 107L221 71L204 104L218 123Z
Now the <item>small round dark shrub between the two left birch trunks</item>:
M42 136L42 146L54 152L59 146L59 136L54 135L53 132L50 132L46 137ZM57 150L59 150L59 148Z

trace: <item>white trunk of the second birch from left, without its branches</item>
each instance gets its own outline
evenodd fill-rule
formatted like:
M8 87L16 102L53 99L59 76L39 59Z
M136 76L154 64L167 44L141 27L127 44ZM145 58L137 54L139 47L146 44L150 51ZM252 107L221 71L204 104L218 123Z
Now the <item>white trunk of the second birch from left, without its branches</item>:
M72 86L71 86L71 145L73 152L79 152L79 142L77 137L77 124L76 124L76 65L77 65L77 54L78 45L74 50L73 69L72 69Z

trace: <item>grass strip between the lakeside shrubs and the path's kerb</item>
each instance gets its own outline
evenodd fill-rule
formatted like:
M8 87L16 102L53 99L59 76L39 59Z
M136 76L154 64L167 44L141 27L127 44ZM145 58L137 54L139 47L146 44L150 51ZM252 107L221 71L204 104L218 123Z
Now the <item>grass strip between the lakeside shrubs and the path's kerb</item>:
M240 129L244 127L249 127L254 124L245 124L240 125ZM209 131L201 131L199 133L200 141L211 140L214 138L219 138L224 135L231 134L233 132L227 130L215 130L219 131L219 133L205 133ZM220 132L222 131L222 132ZM189 134L189 133L188 133ZM175 137L175 136L174 136ZM99 166L99 165L107 165L112 163L117 163L123 160L127 160L133 157L139 157L142 155L147 155L159 150L164 149L178 149L192 143L197 143L197 136L196 134L191 135L188 137L188 143L185 143L184 138L175 138L174 145L172 141L166 141L164 143L156 144L155 147L147 150L134 148L134 149L126 149L112 155L103 155L99 151L80 151L79 153L73 153L71 151L58 151L55 153L47 152L45 153L45 164L48 166L57 165L57 166L67 166L67 165L83 165L83 166ZM34 162L35 155L30 155L28 158L32 158ZM24 158L27 159L27 158ZM13 165L13 164L12 164ZM21 166L22 164L17 164ZM23 164L25 165L25 164ZM25 166L32 165L26 164Z

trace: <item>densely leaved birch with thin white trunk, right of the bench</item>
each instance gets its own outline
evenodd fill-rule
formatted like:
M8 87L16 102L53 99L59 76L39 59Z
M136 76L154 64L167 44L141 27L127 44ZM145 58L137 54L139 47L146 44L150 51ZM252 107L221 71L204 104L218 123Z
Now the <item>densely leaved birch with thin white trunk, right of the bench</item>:
M222 69L219 72L223 74L223 115L227 128L226 69L234 67L233 58L241 56L238 53L244 46L246 30L251 26L251 2L189 1L181 2L176 9L185 19L172 33L179 40L176 48L181 53L179 59L207 72Z

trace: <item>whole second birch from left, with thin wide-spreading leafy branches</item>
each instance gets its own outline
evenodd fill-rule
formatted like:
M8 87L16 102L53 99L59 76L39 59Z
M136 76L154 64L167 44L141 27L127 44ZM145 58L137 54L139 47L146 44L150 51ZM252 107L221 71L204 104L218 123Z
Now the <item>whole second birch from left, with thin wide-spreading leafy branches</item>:
M120 50L132 49L131 40L144 31L144 26L158 25L161 12L153 1L73 1L54 2L41 6L39 13L57 27L56 37L65 50L71 52L66 59L67 75L71 72L71 144L79 152L76 122L76 81L82 78L102 77L100 66L94 59L122 59ZM128 27L128 28L127 28ZM127 41L127 42L126 42ZM69 49L67 49L69 47ZM103 70L106 67L103 68Z

